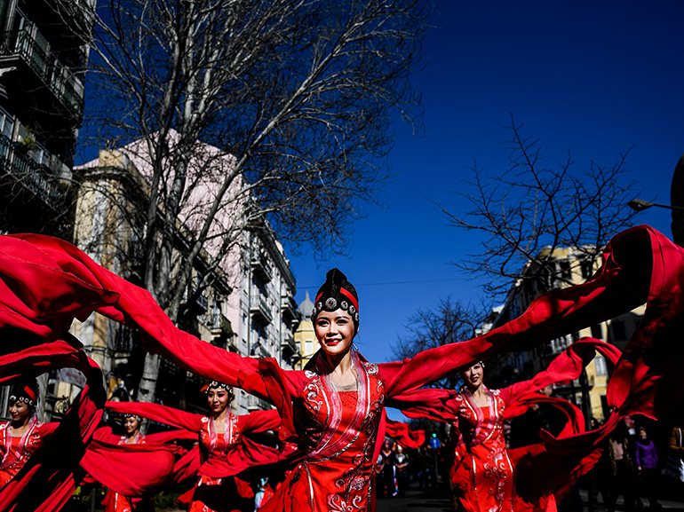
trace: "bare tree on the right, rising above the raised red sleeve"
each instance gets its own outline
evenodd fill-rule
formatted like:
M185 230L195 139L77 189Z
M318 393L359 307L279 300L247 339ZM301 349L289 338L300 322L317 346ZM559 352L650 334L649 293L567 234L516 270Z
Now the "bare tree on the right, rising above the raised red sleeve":
M513 116L508 130L510 167L493 177L473 167L467 192L457 193L472 209L457 215L442 208L453 226L483 237L481 251L455 265L484 278L485 293L499 297L516 280L547 283L546 288L570 284L576 269L559 272L557 248L571 248L571 263L591 275L608 240L630 227L636 214L627 207L637 192L626 176L629 152L610 166L591 161L580 167L568 155L549 168L539 139L523 135Z

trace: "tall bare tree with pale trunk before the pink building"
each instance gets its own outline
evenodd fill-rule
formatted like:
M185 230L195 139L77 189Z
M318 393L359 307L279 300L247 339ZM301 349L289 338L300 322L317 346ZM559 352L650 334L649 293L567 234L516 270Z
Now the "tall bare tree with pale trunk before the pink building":
M136 205L144 285L171 319L182 314L195 258L211 256L196 295L246 230L271 225L318 254L343 250L386 178L391 123L415 121L408 79L424 3L99 5L90 132L100 145L126 143L147 179L147 201ZM140 399L154 399L158 364L147 356Z

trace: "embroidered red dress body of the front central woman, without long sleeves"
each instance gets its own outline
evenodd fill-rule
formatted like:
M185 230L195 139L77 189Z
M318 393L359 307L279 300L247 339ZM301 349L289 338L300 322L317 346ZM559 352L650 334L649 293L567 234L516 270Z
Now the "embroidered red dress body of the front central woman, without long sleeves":
M429 352L429 351L428 351ZM372 512L375 510L375 446L387 397L429 382L439 370L424 352L413 359L374 364L351 352L355 390L338 390L325 360L314 356L310 369L283 371L261 360L237 384L269 398L303 446L297 467L263 507L267 512ZM405 388L405 387L406 388Z

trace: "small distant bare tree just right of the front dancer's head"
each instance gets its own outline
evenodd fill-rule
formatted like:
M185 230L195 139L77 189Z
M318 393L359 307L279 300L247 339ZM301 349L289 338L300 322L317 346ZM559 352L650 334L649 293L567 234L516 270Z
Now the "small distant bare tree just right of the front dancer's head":
M416 311L406 327L409 335L399 338L392 347L394 358L412 358L420 351L473 338L481 324L481 311L472 305L453 302L450 297L441 299L434 310ZM453 390L459 381L460 376L452 374L434 382L433 387Z

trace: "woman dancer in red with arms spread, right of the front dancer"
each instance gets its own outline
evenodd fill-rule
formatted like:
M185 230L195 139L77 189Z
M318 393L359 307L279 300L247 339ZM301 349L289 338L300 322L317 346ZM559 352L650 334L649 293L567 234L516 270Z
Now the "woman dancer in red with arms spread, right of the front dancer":
M404 401L402 408L405 414L452 423L451 433L455 437L456 450L451 478L457 498L466 512L513 512L535 506L534 503L530 505L518 499L517 462L524 460L528 476L531 472L533 478L537 479L545 474L547 484L554 475L535 468L534 459L541 453L540 447L524 447L514 452L506 449L504 420L522 414L532 404L543 402L558 406L568 420L559 437L582 434L585 421L576 406L535 391L553 382L577 378L595 350L601 352L611 368L620 356L614 346L586 338L573 343L553 360L547 370L530 381L501 390L489 390L484 385L484 365L478 362L461 372L464 386L459 391L417 390L398 398ZM559 493L561 487L563 491L567 489L574 478L569 471L564 474L561 471L561 477L565 482L562 486L556 486ZM551 497L545 498L545 505L548 505ZM552 506L547 509L553 510L554 503L555 497L551 500Z

